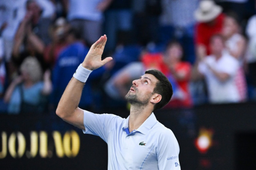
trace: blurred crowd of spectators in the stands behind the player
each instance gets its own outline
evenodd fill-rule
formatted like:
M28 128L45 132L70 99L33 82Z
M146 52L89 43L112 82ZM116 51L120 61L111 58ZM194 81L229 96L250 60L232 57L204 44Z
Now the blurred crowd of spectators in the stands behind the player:
M173 85L166 108L256 101L255 0L0 1L0 112L55 111L90 46L103 58L80 108L125 108L147 69Z

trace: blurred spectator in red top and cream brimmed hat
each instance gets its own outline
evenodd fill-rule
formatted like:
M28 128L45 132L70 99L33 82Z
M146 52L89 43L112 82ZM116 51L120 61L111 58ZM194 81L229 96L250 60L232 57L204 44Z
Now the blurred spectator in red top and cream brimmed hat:
M222 31L224 14L213 0L202 0L194 16L198 22L195 28L196 54L203 58L210 53L210 37Z

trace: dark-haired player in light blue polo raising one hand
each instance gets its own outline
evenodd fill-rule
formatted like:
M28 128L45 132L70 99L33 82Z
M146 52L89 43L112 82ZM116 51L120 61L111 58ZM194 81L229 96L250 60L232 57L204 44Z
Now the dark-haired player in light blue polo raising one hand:
M153 113L166 105L173 94L169 80L160 71L147 70L132 82L126 95L131 104L127 119L78 108L89 74L112 60L112 57L101 60L106 40L106 35L101 36L91 46L67 85L56 114L85 134L97 135L108 144L109 170L180 170L177 139L170 129L157 121Z

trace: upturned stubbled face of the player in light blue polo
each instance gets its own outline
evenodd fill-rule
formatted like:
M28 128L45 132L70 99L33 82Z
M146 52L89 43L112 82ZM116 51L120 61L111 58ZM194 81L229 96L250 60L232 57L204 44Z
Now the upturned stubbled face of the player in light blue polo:
M139 79L133 80L133 86L126 94L125 99L131 104L148 104L157 81L158 79L151 74L145 74Z

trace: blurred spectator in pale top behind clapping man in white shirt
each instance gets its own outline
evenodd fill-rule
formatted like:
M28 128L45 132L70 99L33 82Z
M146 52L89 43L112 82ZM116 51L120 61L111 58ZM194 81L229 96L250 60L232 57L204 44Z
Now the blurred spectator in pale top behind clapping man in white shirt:
M243 68L245 66L246 40L245 37L239 33L240 29L237 15L235 13L228 13L224 19L222 35L228 52L240 63L235 81L238 86L241 101L245 101L247 99L247 84Z

